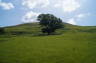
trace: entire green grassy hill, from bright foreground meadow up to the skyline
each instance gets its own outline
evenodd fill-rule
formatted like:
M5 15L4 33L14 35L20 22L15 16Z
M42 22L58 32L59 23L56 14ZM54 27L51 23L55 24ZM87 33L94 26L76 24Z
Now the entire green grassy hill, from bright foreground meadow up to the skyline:
M0 63L96 63L96 26L64 26L50 36L39 36L38 23L5 27Z

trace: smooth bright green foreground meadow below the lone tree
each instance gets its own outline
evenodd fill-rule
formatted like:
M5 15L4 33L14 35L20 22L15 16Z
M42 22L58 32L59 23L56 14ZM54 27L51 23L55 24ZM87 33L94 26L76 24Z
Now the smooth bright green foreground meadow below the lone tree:
M0 37L0 63L96 63L96 33Z

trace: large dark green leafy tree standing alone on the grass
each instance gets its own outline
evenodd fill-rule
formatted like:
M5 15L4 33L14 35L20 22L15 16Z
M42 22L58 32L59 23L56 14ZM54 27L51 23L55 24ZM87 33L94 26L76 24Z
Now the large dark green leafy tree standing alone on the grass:
M48 35L54 33L56 29L63 27L63 22L60 18L55 17L52 14L40 14L37 18L40 21L42 32Z

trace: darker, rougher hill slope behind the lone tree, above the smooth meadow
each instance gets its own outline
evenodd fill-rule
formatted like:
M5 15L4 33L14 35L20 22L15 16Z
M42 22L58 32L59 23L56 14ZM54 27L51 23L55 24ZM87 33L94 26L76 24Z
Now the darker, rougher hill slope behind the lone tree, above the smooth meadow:
M4 28L8 34L13 34L13 35L15 35L15 34L17 34L17 35L42 34L39 23L25 23L25 24L19 24L19 25L15 25L15 26L8 26L8 27L4 27ZM77 26L77 25L71 25L68 23L64 23L64 28L56 31L57 34L73 33L73 32L75 32L75 33L76 32L95 33L96 26Z

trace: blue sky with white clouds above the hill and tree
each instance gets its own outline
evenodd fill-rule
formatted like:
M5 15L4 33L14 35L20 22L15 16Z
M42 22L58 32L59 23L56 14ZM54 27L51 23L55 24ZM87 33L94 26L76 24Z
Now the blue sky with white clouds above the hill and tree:
M53 14L63 22L96 26L96 0L0 0L0 27L37 22Z

